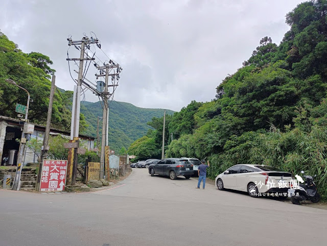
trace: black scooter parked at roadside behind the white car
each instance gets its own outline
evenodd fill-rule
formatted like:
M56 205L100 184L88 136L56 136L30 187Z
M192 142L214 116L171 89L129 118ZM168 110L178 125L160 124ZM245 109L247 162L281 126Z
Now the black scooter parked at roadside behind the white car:
M301 171L301 174L304 174L304 171ZM299 183L298 189L289 189L288 196L291 198L291 202L295 205L300 205L300 201L311 201L313 203L318 203L320 201L320 194L316 184L313 182L314 177L309 175L304 175L305 178L304 184Z

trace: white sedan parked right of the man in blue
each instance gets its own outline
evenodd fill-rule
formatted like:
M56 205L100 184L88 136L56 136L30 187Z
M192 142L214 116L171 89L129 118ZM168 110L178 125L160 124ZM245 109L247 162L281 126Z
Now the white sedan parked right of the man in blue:
M233 189L247 191L250 196L259 193L287 192L292 174L277 171L271 166L239 164L228 168L216 177L219 190Z

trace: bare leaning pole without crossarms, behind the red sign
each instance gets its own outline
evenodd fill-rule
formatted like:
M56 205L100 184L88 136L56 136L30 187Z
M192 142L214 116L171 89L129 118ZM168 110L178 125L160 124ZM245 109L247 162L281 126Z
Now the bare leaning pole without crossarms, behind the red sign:
M45 126L45 132L43 137L43 145L42 145L42 153L41 153L41 160L39 163L39 173L37 176L37 182L35 185L35 190L39 190L39 185L41 181L41 174L42 174L42 166L43 166L43 160L48 155L49 151L49 135L50 135L50 124L51 124L51 116L52 116L52 105L53 105L53 96L55 94L55 82L56 82L56 76L52 75L51 80L51 90L50 90L50 101L49 101L49 108L48 108L48 116L46 117L46 126Z

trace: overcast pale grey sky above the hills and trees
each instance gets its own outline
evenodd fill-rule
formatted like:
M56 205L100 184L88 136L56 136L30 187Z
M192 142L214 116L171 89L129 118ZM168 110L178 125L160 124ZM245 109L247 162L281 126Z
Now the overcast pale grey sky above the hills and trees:
M0 30L25 52L53 61L56 85L73 90L67 37L80 40L94 32L102 50L122 67L114 100L144 108L179 111L192 100L214 99L215 88L242 66L259 41L279 44L289 27L285 15L298 0L2 0ZM102 62L99 48L91 51ZM69 58L78 58L71 47ZM98 58L97 61L98 61ZM72 75L77 78L75 63ZM90 66L86 78L95 81ZM98 97L86 93L86 101Z

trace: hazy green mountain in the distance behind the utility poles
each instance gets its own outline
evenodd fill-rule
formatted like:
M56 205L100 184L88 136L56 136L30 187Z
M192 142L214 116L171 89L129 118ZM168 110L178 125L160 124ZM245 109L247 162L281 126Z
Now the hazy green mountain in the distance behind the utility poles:
M84 114L88 127L83 132L86 135L97 135L98 116L102 117L100 102L81 103L81 113ZM153 117L162 117L165 109L139 108L130 103L111 101L109 103L109 146L110 149L119 151L122 147L127 149L132 142L144 136L149 129L147 122ZM174 111L166 110L172 115ZM102 120L99 123L99 135L101 138Z

